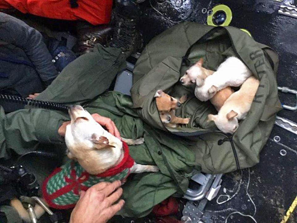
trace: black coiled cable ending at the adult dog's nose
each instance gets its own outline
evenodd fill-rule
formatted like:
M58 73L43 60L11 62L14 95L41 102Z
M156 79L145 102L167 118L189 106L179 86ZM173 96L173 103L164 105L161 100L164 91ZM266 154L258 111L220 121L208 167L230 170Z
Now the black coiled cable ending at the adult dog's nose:
M0 99L7 102L15 102L15 103L21 103L24 105L32 105L39 108L54 109L54 110L64 111L64 112L68 111L68 106L64 104L48 102L48 101L38 101L35 99L27 99L27 98L22 98L15 95L0 94Z

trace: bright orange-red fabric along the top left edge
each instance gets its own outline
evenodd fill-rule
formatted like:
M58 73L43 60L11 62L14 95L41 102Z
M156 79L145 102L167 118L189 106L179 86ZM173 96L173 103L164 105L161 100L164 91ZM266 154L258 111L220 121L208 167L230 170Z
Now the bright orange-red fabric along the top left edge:
M112 0L77 0L71 8L69 0L0 0L0 8L16 8L23 13L51 19L87 20L93 25L110 22Z

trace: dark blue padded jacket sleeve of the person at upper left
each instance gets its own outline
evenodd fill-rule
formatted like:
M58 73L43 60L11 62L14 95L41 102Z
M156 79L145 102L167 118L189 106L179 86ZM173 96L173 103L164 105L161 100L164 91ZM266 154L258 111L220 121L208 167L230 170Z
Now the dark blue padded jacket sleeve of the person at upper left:
M24 50L45 83L58 75L41 33L23 21L0 12L0 40Z

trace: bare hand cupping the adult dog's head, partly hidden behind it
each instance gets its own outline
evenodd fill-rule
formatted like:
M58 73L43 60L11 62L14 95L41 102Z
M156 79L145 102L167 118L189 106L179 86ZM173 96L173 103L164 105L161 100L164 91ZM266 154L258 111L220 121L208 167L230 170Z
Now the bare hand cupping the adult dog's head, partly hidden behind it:
M115 126L114 122L110 118L103 117L103 116L101 116L99 114L96 114L96 113L92 114L92 117L96 122L98 122L100 125L105 127L110 134L112 134L115 137L121 139L121 136L120 136L120 133L119 133L117 127ZM58 129L58 134L60 136L63 136L63 137L65 136L66 126L68 124L70 124L70 121L62 123L62 125Z

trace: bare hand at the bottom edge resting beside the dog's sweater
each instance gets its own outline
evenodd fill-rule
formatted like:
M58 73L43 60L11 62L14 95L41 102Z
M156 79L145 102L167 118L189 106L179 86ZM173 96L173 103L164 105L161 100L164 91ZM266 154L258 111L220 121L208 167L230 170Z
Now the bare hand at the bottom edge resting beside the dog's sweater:
M120 186L121 181L101 182L87 191L81 191L80 199L71 213L70 223L107 222L125 203L124 200L120 200L113 205L123 194Z

